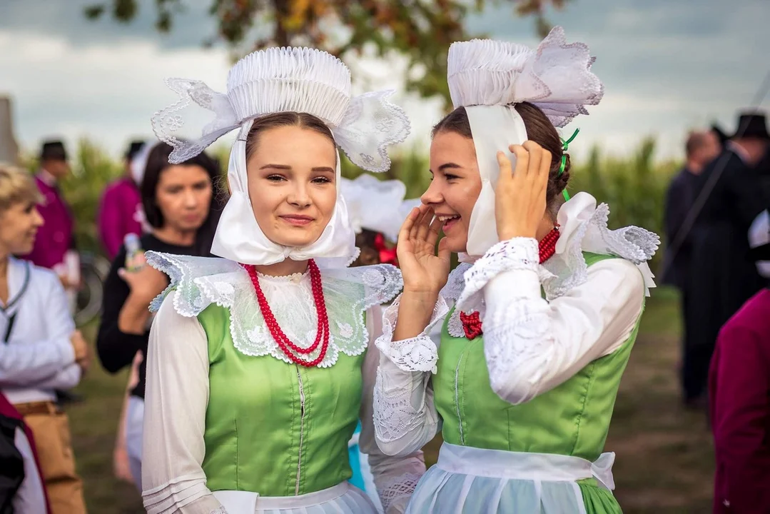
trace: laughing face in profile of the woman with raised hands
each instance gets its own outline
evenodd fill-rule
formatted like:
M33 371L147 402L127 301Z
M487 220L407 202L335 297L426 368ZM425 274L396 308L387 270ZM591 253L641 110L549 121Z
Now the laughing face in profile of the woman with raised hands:
M430 173L433 180L421 200L444 220L447 248L464 252L470 213L481 192L473 139L448 131L436 133L430 144Z

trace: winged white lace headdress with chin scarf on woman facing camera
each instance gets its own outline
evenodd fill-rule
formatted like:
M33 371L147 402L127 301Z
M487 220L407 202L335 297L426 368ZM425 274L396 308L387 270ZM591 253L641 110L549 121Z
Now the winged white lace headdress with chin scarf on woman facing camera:
M403 110L387 101L392 91L351 96L350 70L340 59L316 49L271 48L246 55L230 69L226 94L199 81L168 79L180 100L152 117L152 128L174 147L169 162L181 163L233 129L240 129L230 151L228 200L214 236L212 253L243 264L275 264L316 259L320 267L344 267L356 259L355 234L337 186L334 213L321 236L306 247L283 247L270 241L254 218L246 175L246 136L259 116L272 113L309 113L329 126L337 146L353 163L382 172L390 167L387 147L409 134ZM183 125L179 111L190 100L216 118L201 137L182 141L174 133ZM340 184L340 156L336 180Z

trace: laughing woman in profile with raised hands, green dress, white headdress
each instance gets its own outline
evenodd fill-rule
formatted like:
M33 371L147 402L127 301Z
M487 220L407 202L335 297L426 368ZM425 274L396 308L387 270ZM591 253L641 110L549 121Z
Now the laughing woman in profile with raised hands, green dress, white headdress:
M455 110L434 128L433 180L399 234L403 294L377 340L380 449L444 438L407 512L621 512L602 452L658 237L608 230L588 193L567 200L556 127L601 99L592 62L561 28L537 50L450 47Z

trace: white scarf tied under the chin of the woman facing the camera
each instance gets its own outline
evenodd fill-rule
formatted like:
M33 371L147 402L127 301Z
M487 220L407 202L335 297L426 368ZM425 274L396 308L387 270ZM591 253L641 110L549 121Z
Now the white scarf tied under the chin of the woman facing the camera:
M253 120L244 123L233 143L227 168L230 198L216 227L211 253L242 264L268 265L283 260L315 259L319 267L346 267L358 257L356 234L348 220L347 206L340 193L340 153L336 151L336 204L320 237L306 247L284 247L269 240L259 223L249 199L246 173L246 136Z

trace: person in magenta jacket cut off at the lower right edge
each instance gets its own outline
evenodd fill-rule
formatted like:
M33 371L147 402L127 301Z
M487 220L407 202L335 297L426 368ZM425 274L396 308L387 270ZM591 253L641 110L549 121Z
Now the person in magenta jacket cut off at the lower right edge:
M752 250L770 259L770 245ZM714 512L770 512L770 288L721 328L708 380Z

